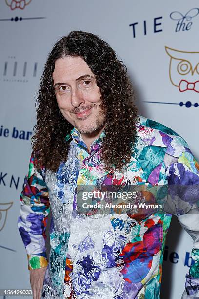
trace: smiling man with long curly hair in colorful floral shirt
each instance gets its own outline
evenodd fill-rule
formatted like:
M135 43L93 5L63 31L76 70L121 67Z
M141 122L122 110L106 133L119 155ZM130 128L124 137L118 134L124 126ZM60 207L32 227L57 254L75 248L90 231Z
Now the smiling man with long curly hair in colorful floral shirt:
M138 116L126 67L98 36L72 31L50 52L18 219L33 298L159 299L171 213L83 214L80 186L199 182L199 165L172 129ZM190 200L188 201L188 204ZM46 256L46 223L50 256ZM199 296L199 213L178 214L196 263L182 298Z

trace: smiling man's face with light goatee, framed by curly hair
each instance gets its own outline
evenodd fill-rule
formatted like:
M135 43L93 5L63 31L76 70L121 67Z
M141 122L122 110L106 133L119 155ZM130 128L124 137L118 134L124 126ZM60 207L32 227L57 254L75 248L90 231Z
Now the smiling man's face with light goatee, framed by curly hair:
M95 75L79 56L55 61L53 85L59 109L64 118L81 133L100 130L105 117L100 109L100 90Z

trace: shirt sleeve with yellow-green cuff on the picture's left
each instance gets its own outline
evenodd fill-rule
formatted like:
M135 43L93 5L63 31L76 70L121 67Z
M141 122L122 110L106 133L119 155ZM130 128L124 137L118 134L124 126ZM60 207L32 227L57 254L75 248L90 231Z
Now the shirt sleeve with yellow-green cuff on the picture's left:
M46 224L50 212L48 188L44 177L45 169L36 170L32 153L29 171L25 176L20 194L18 228L28 257L28 269L39 269L48 264L46 256Z

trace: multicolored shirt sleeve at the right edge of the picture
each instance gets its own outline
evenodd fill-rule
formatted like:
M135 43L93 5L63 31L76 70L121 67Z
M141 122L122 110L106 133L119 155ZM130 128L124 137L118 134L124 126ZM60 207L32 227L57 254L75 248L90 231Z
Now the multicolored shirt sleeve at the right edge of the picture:
M181 299L196 299L199 298L199 164L187 147L176 146L175 150L178 157L175 156L173 163L166 167L166 177L173 195L178 195L178 200L174 199L176 215L193 239L191 257L195 261L186 274Z

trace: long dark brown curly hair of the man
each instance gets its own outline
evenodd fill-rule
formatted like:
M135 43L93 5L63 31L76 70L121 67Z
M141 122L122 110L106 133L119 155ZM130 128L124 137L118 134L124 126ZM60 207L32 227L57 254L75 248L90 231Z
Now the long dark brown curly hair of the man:
M32 148L37 169L57 171L67 160L70 141L65 137L73 126L63 117L57 104L52 73L55 61L65 56L80 56L96 77L106 126L101 148L105 170L121 168L130 161L135 142L136 122L139 121L126 66L115 51L98 36L71 31L62 37L48 55L36 100L37 125Z

